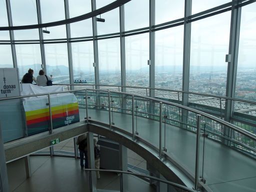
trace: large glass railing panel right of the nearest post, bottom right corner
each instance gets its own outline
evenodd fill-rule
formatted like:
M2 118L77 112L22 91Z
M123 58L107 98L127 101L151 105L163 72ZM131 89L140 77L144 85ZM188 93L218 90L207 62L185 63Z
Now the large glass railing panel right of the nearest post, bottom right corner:
M211 125L217 122L208 122L210 120L205 118L201 129L204 123L205 129L216 129L216 126ZM248 155L255 155L255 141L229 127L222 128L218 142L216 138L213 140L210 134L204 137L203 161L200 160L203 169L199 175L213 191L253 191L255 182L251 178L256 172L255 158ZM203 129L201 131L203 132ZM205 132L207 133L207 130Z

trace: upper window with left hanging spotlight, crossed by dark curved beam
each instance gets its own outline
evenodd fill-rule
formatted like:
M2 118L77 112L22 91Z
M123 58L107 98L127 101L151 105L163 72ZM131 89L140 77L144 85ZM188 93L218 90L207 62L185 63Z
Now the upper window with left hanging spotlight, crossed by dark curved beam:
M65 8L63 0L41 0L42 23L65 19ZM43 28L45 29L45 28ZM43 33L44 39L66 38L65 25L46 28L50 33Z

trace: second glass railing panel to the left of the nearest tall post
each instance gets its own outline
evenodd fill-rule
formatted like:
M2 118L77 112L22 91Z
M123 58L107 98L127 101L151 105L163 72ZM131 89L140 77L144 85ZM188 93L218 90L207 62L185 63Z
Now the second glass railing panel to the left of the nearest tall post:
M134 107L135 134L159 148L159 103L135 96Z

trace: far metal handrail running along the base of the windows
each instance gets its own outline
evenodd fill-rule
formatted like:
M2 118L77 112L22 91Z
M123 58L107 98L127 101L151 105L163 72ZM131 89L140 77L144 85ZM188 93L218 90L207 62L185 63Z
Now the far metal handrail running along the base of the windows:
M229 99L233 101L240 101L240 102L246 102L250 104L256 104L256 101L252 100L246 100L246 99L241 99L241 98L232 98L228 96L218 96L218 95L213 95L213 94L207 94L207 93L198 93L198 92L190 92L190 91L183 91L183 90L173 90L173 89L167 89L167 88L151 88L151 87L144 87L144 86L122 86L122 85L109 85L109 84L65 84L65 83L60 83L60 84L54 84L54 85L67 85L67 86L112 86L112 87L125 87L125 88L137 88L137 89L152 89L152 90L163 90L163 91L168 91L168 92L178 92L178 93L187 93L187 94L195 94L195 95L200 95L200 96L211 96L215 98L222 98L222 99ZM102 90L102 89L100 89Z

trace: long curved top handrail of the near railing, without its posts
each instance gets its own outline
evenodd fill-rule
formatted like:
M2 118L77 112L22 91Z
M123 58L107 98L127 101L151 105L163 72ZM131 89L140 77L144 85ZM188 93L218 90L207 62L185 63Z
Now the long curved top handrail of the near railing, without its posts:
M191 112L194 112L196 114L200 114L202 116L205 116L211 120L214 120L224 126L227 126L253 140L256 141L256 135L247 131L247 130L244 130L236 125L233 125L227 121L224 121L220 118L217 118L213 115L210 115L210 114L207 114L205 112L202 112L202 111L199 111L199 110L196 110L196 109L193 109L193 108L190 108L188 106L183 106L183 105L180 105L180 104L177 104L177 103L174 103L174 102L169 102L169 101L165 101L165 100L161 100L161 99L157 99L157 98L152 98L152 97L149 97L149 96L142 96L142 95L138 95L138 94L131 94L131 93L127 93L127 92L120 92L120 91L109 91L109 90L104 90L104 89L91 89L91 88L85 88L85 89L77 89L77 90L66 90L66 91L58 91L58 92L51 92L51 93L42 93L42 94L32 94L32 95L23 95L23 96L14 96L14 97L7 97L7 98L0 98L0 100L8 100L8 99L14 99L14 98L23 98L23 97L31 97L31 96L42 96L42 95L48 95L48 94L58 94L58 93L65 93L65 92L75 92L75 91L87 91L87 90L90 90L90 91L101 91L101 92L112 92L112 93L117 93L117 94L126 94L126 95L130 95L130 96L136 96L136 97L141 97L141 98L145 98L145 99L148 99L148 100L153 100L153 101L157 101L157 102L162 102L163 104L168 104L168 105L172 105L172 106L176 106L176 107L179 107L179 108L182 108L182 109L185 109L185 110L188 110L188 111L191 111Z

